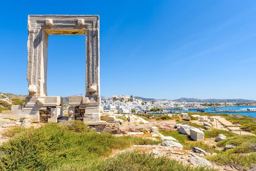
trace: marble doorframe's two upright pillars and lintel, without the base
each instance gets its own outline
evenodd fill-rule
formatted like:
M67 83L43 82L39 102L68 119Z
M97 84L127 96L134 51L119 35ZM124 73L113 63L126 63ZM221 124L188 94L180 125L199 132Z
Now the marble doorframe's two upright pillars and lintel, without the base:
M29 30L27 81L30 98L47 96L49 34L86 36L85 96L100 98L98 15L29 15L27 29Z

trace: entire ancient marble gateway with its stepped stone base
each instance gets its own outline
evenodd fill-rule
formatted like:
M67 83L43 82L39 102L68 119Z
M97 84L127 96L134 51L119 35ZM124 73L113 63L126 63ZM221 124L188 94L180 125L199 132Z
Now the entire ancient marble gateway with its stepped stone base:
M102 125L99 83L99 16L98 15L29 15L27 29L28 64L27 81L29 96L25 105L13 105L3 111L1 118L26 117L33 122L57 122L62 117L63 98L47 96L48 35L85 35L86 81L85 96L69 96L69 119L80 119L88 125Z

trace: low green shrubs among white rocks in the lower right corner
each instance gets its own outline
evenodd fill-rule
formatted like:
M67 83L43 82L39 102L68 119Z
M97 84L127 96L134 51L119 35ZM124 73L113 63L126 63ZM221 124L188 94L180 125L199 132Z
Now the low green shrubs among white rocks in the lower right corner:
M228 138L217 143L219 147L225 147L226 144L234 144L236 148L219 151L204 142L190 141L188 135L180 134L178 131L163 131L160 130L164 136L171 136L179 141L184 146L184 149L192 149L192 147L198 147L204 149L207 152L216 155L207 156L207 160L217 162L218 164L231 165L239 170L253 167L256 164L256 136L250 135L236 135L226 131L205 131L207 138L216 137L218 134L224 134Z

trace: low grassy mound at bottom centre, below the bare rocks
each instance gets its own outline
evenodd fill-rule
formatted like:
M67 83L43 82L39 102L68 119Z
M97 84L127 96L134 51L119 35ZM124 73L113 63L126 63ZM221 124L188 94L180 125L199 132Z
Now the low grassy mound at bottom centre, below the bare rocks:
M118 154L100 162L95 168L99 171L214 171L206 167L191 168L175 160L138 152Z

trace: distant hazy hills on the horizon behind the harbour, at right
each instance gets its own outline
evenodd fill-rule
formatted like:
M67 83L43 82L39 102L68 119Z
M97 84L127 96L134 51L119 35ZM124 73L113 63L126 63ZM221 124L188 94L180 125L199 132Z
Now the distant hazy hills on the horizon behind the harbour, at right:
M200 103L252 103L254 100L247 99L196 99L196 98L180 98L173 100L175 102L200 102Z

